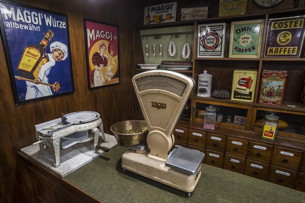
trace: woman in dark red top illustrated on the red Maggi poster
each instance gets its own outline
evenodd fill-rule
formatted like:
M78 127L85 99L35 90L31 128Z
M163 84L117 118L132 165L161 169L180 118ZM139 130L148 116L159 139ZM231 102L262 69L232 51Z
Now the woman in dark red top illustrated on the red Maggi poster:
M106 49L106 43L101 42L99 44L99 50L92 56L92 62L95 69L92 71L90 79L93 87L102 86L106 81L101 70L107 71L106 67L109 65L112 57L110 54L110 58L108 60L109 56L105 53Z

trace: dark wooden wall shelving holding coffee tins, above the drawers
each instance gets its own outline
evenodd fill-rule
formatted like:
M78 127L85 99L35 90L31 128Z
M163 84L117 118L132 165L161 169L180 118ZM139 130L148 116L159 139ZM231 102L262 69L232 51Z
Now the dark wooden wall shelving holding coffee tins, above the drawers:
M226 16L226 17L213 17L213 18L206 18L202 20L194 20L188 22L175 22L175 23L162 23L162 24L154 24L154 25L144 25L137 27L138 35L140 29L155 29L155 28L164 28L164 27L175 27L175 26L185 26L185 25L194 25L194 42L193 42L193 49L192 49L192 58L193 58L193 68L190 70L174 70L175 72L180 72L182 74L187 74L188 76L193 77L195 80L195 84L198 84L198 75L203 73L206 70L209 74L213 75L212 78L212 89L211 92L215 89L227 89L231 92L232 87L232 78L233 78L233 71L234 70L252 70L257 71L257 81L256 81L256 89L255 89L255 96L253 102L248 101L237 101L231 99L220 99L214 97L199 97L196 95L197 93L197 85L194 86L193 92L189 100L191 100L191 115L190 118L184 118L186 122L189 122L189 125L192 126L193 122L202 125L203 119L196 117L196 106L198 108L204 108L208 105L220 106L223 109L236 108L246 110L242 112L240 116L246 117L246 125L240 125L235 123L226 123L226 122L217 122L216 125L221 128L238 128L245 131L250 132L260 132L260 127L255 127L255 121L259 118L259 114L262 111L268 111L283 115L295 115L296 118L304 119L305 107L300 103L300 94L301 94L301 84L305 78L305 66L304 61L305 58L264 58L264 46L265 46L265 38L266 38L266 31L268 25L268 19L270 18L282 18L287 16L297 16L297 15L305 15L305 8L298 8L298 9L287 9L281 11L272 11L272 12L264 12L264 13L257 13L257 14L246 14L240 16ZM264 19L264 30L263 30L263 37L262 37L262 44L261 44L261 51L260 56L258 58L230 58L228 57L229 52L229 39L230 39L230 25L231 22L234 21L245 21L245 20L259 20ZM226 30L226 48L225 48L225 57L224 58L214 58L214 57L197 57L197 38L198 38L198 24L209 24L209 23L220 23L226 22L228 25L228 29ZM140 35L138 35L140 36ZM141 48L143 45L141 45ZM142 51L142 49L141 49ZM303 50L304 52L305 50ZM139 50L135 62L143 62L144 55L140 53ZM289 71L288 80L286 85L286 91L284 96L283 106L273 106L273 105L262 105L258 104L258 92L260 86L260 77L261 72L263 70L269 69L276 69L282 70L286 69ZM140 73L143 71L149 71L145 69L139 69L138 66L134 69L135 74ZM201 105L201 107L200 107ZM203 105L203 106L202 106ZM291 108L288 106L294 106L295 108ZM234 116L234 115L233 115ZM289 117L289 116L286 116ZM289 117L291 120L293 117ZM304 119L305 120L305 119ZM294 126L293 122L287 121L290 126ZM300 127L300 125L298 125ZM281 131L279 132L279 136L288 139L297 139L301 140L302 142L305 141L305 134L299 134L299 130L291 130L289 132ZM302 133L302 132L301 132Z

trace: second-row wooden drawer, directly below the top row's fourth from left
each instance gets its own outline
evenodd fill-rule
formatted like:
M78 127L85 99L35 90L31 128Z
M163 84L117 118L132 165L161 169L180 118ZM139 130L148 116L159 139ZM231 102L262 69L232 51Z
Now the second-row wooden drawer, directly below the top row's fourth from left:
M244 158L225 155L224 169L239 174L243 174L245 170L246 160Z

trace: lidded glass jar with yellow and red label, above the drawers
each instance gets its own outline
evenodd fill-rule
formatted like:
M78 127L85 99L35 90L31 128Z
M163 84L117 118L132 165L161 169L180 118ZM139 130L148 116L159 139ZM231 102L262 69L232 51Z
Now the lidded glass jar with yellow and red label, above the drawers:
M279 117L273 114L266 115L262 126L262 139L268 141L276 141L278 134Z

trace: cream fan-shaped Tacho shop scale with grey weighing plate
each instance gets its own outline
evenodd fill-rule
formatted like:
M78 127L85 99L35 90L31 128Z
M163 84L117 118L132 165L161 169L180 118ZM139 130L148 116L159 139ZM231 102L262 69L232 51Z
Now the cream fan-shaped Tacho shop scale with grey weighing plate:
M190 197L201 176L204 153L175 148L173 130L194 86L188 76L164 70L147 71L132 79L148 127L147 152L129 149L121 167L187 192Z

